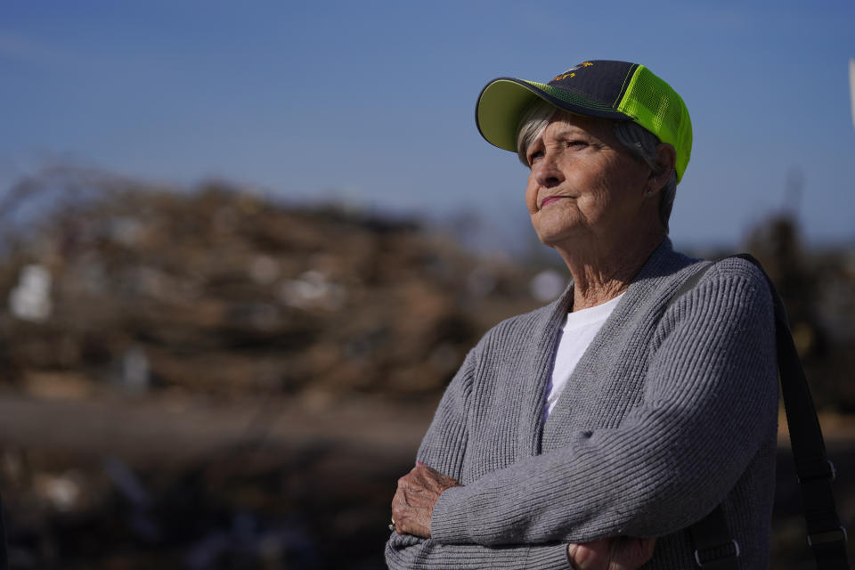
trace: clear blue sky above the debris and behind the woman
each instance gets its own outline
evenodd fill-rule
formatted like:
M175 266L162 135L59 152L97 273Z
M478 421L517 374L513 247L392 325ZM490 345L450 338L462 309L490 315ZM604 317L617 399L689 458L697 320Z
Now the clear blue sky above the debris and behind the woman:
M531 239L525 168L484 142L493 77L639 61L695 129L672 237L737 244L786 204L855 242L855 2L0 4L0 191L40 165L223 177Z

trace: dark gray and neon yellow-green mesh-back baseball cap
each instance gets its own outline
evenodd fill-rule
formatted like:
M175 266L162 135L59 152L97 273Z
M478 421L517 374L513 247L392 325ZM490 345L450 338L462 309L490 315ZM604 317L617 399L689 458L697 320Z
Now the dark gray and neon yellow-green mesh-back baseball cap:
M491 144L517 151L517 126L535 99L579 115L631 120L677 152L677 182L692 153L692 122L686 103L671 85L638 63L590 60L549 83L499 77L485 85L475 108L478 131Z

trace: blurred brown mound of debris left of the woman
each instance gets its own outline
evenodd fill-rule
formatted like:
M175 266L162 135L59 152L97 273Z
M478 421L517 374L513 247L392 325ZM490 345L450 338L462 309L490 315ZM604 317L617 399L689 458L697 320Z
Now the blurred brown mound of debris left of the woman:
M411 220L222 184L86 188L0 256L0 370L25 390L424 395L486 326L542 304L520 270Z

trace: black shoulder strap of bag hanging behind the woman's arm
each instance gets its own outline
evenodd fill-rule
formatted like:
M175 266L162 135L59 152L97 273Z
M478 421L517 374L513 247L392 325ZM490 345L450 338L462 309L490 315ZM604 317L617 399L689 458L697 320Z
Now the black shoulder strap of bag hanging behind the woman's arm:
M778 373L781 379L781 395L784 398L786 423L790 430L790 444L793 449L796 473L802 489L804 517L807 523L808 544L813 550L819 570L850 570L846 558L846 529L840 523L835 508L835 498L831 483L835 479L835 468L826 456L826 445L819 427L817 411L810 395L808 380L802 370L802 362L795 350L793 335L790 333L786 311L778 291L763 271L760 262L748 254L740 257L760 269L775 305L775 338L778 348ZM700 277L712 265L705 265L695 275L689 277L688 288L681 287L672 297L680 297L695 287ZM700 273L697 278L696 275ZM721 505L707 517L692 525L689 529L695 543L697 565L704 569L736 570L739 545L733 540L727 528Z

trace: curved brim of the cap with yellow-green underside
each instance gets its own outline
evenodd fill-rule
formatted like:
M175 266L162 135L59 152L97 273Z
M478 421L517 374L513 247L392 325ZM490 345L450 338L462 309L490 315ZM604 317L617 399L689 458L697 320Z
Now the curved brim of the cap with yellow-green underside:
M548 93L545 89L549 89ZM538 84L513 77L499 77L485 85L478 95L475 106L475 122L478 131L487 142L505 151L517 151L517 126L523 112L535 99L542 99L559 109L598 118L631 119L620 111L610 110L592 104L578 104L560 99L564 95L550 85ZM575 100L580 95L567 92L566 96ZM599 108L597 108L599 107Z

